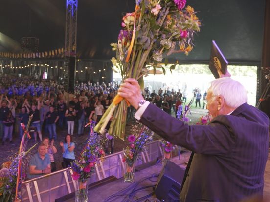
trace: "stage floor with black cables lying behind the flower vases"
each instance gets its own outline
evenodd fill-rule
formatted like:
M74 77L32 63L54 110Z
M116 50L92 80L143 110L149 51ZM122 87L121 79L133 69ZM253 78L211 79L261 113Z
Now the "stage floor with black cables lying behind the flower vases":
M188 161L190 156L190 152L183 153L179 159L179 157L174 157L172 162L178 164L180 167L185 168L185 162ZM125 183L123 182L123 178L117 179L113 182L109 182L97 188L92 188L89 190L89 202L104 202L106 199L107 202L121 202L121 201L135 201L138 198L151 194L153 192L153 188L149 187L147 189L142 189L133 195L135 197L127 198L127 195L132 192L134 189L139 189L145 186L154 186L156 185L157 177L156 174L159 174L162 169L161 162L140 171L135 172L135 182L134 183ZM138 182L140 182L138 184ZM136 186L137 185L137 186ZM136 187L135 187L136 186ZM118 196L117 196L118 194ZM119 195L123 195L122 197ZM111 197L111 198L108 198ZM270 200L270 155L268 157L266 170L265 170L265 186L264 186L264 197ZM155 198L155 195L149 196L146 199ZM74 202L74 197L66 200L65 202ZM145 199L144 199L145 200Z

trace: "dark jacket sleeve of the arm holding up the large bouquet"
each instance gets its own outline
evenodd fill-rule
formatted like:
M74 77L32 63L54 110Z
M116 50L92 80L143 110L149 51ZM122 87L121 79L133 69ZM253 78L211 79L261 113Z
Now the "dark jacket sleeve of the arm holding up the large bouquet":
M215 118L209 125L187 125L149 104L140 122L165 140L195 153L225 154L236 141L228 116L223 115Z

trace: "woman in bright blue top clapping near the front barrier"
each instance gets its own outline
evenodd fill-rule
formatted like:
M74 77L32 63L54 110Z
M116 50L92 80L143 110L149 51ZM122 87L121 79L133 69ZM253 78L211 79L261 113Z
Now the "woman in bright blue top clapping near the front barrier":
M65 143L60 142L60 146L63 152L63 168L67 168L71 162L75 160L74 148L75 144L72 142L72 136L67 134L65 137Z

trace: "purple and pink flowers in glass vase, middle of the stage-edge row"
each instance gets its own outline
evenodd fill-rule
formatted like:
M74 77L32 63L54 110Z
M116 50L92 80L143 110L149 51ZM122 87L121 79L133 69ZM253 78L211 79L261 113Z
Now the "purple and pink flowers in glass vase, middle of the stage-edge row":
M142 130L144 131L144 129ZM128 136L128 146L124 149L123 152L123 162L126 162L126 173L124 175L125 182L134 181L134 163L140 157L141 152L143 151L143 146L152 141L154 133L150 134L146 132L141 132L138 135Z

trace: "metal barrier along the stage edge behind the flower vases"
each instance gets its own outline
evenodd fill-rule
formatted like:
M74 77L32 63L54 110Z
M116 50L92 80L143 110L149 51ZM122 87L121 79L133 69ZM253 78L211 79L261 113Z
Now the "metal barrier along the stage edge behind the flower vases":
M98 161L95 172L88 183L97 182L109 176L121 178L125 165L122 161L123 151L105 156L104 161ZM141 165L162 156L160 141L152 141L144 146L141 159L135 166ZM22 202L54 202L55 199L75 191L75 181L71 177L72 170L65 168L38 178L22 182Z

